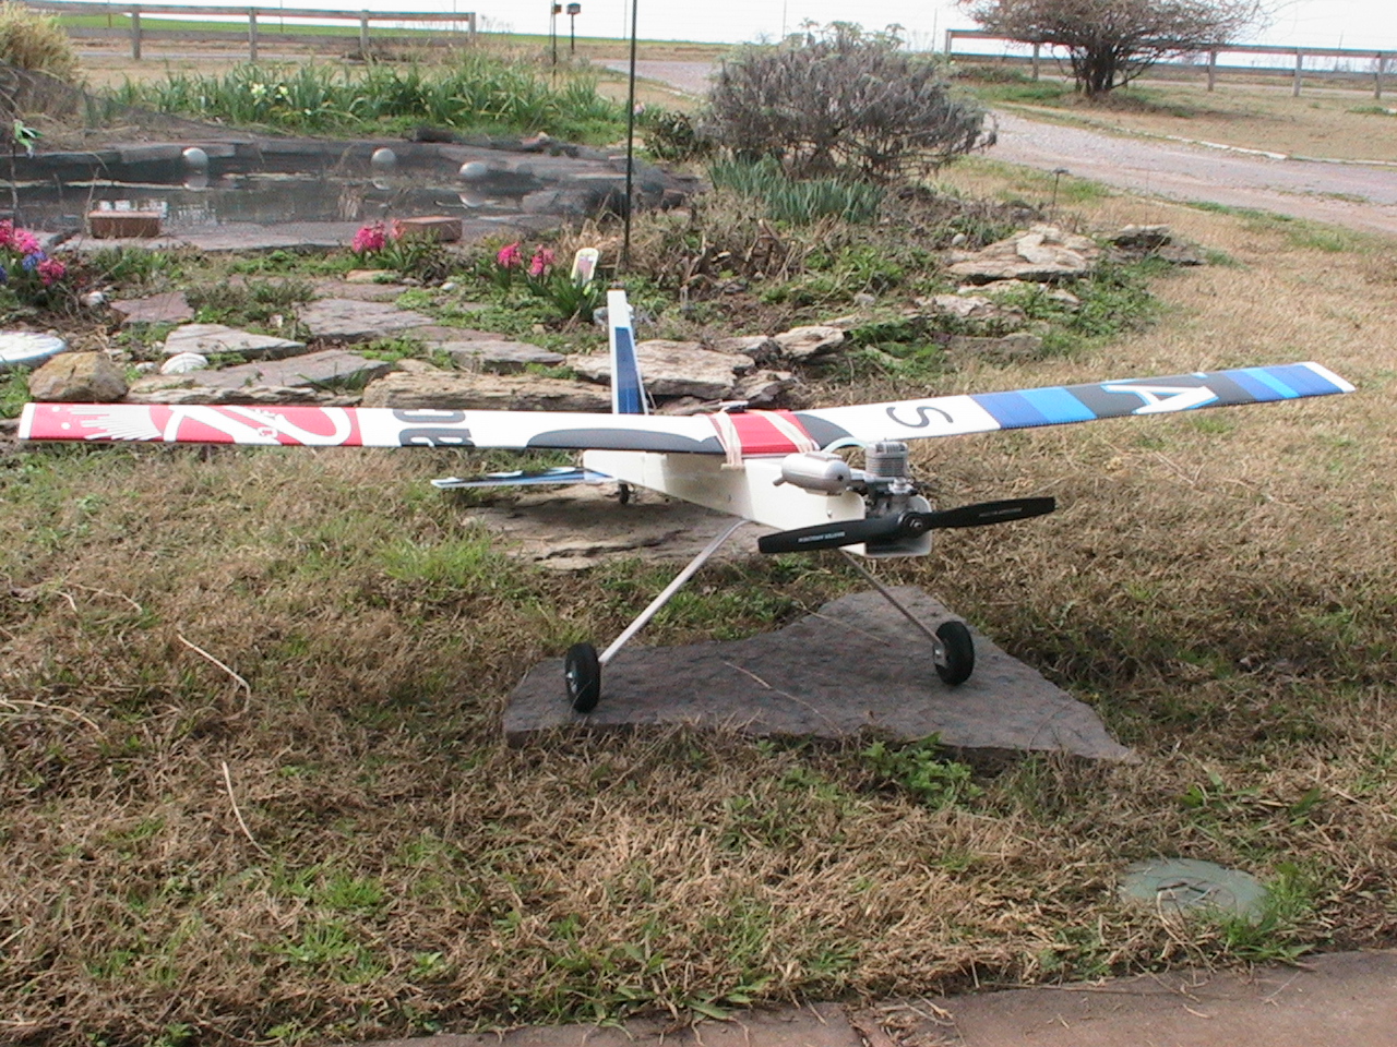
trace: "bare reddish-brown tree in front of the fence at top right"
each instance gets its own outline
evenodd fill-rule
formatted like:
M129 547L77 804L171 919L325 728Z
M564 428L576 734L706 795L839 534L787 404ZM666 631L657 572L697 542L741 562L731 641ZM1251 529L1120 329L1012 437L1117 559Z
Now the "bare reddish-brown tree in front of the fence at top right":
M1261 0L958 0L986 31L1067 50L1088 98L1129 84L1171 54L1234 42L1264 17Z

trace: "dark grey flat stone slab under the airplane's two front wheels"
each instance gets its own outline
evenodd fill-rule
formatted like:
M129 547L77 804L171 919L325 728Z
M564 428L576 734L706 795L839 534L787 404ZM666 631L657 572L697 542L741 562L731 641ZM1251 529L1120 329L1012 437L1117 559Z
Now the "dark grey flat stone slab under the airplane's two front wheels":
M954 617L914 586L894 589L929 628ZM602 701L583 716L563 697L563 662L529 670L504 711L511 743L557 727L725 727L756 736L848 738L873 730L939 734L986 757L1069 752L1133 759L1097 713L979 632L975 674L947 687L930 644L877 592L842 596L785 628L733 642L627 646L602 670ZM601 646L601 645L598 645Z

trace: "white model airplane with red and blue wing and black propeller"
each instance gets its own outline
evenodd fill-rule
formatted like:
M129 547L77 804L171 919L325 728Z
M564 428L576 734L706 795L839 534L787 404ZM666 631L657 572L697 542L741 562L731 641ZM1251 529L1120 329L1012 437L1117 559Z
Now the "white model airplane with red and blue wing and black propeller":
M856 557L921 556L930 532L1003 524L1052 512L1052 498L1010 498L933 510L908 472L908 440L1031 429L1069 422L1165 415L1210 406L1324 396L1354 387L1317 363L1243 367L932 396L814 410L725 410L687 417L647 410L623 290L608 295L612 413L395 410L391 408L161 406L29 403L24 440L165 441L307 447L457 447L581 451L580 469L436 480L439 487L613 480L736 517L601 655L574 645L564 659L567 698L591 712L601 670L690 577L747 521L775 528L763 553L840 549L932 642L937 676L970 678L975 648L964 623L935 632L904 609ZM863 468L837 454L863 448Z

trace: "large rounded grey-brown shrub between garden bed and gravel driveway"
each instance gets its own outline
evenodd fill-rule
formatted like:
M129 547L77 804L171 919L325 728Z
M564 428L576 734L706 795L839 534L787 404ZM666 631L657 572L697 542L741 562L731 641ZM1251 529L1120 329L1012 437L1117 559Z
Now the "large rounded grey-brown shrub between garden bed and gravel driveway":
M724 66L710 95L714 137L738 156L781 159L792 174L887 181L992 141L985 110L953 98L935 61L891 31L834 22Z

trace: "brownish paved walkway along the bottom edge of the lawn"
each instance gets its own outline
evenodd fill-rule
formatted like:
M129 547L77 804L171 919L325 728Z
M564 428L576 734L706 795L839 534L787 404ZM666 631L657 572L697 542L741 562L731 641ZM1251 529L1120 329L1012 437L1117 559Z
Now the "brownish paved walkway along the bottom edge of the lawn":
M891 1030L891 1032L888 1032ZM1393 1047L1397 952L1316 956L1248 974L1182 972L975 993L854 1011L745 1012L697 1027L527 1027L377 1047Z

